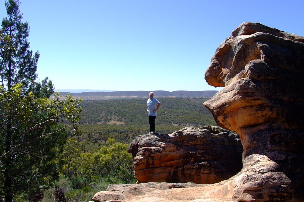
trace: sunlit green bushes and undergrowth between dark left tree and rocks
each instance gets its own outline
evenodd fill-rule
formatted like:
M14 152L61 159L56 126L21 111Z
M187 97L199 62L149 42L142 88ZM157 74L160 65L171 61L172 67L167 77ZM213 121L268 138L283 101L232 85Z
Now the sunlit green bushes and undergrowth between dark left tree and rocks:
M80 152L83 145L93 148ZM80 144L76 139L67 140L63 149L61 172L70 180L65 192L67 201L91 200L93 195L105 190L113 183L135 183L133 157L127 153L128 144L109 138L96 147L94 144Z

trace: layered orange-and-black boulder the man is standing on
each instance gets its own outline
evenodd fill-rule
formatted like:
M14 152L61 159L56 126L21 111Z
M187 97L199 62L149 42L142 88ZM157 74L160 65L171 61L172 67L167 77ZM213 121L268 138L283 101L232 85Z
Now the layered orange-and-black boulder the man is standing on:
M128 152L134 157L134 174L141 183L217 183L242 168L239 135L218 126L139 135Z

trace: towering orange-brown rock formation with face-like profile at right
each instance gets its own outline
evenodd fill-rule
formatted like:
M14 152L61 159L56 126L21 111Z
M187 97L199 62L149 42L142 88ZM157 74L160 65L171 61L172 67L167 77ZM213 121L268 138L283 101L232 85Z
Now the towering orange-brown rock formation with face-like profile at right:
M225 88L204 106L241 138L234 200L303 200L303 78L301 36L246 22L216 50L205 79Z

